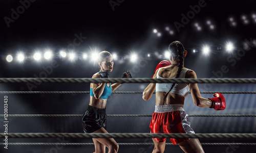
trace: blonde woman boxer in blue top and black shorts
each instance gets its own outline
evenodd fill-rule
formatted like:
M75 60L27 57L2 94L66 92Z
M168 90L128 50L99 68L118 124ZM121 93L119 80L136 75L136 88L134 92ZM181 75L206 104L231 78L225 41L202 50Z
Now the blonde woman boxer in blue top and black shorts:
M92 78L109 78L109 72L113 70L114 61L112 55L107 51L102 51L98 56L100 71L93 74ZM129 71L124 72L122 78L132 78ZM84 133L108 133L106 131L106 100L121 83L91 83L90 103L88 109L84 111L82 117L82 127ZM109 153L118 151L118 144L113 138L93 138L95 152L105 152L105 146L109 148Z

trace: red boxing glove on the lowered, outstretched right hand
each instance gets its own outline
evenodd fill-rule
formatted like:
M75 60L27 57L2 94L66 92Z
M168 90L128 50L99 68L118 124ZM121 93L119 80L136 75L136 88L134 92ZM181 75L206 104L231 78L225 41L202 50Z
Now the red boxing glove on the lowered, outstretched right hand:
M215 93L214 97L208 99L212 101L212 106L210 108L214 108L217 111L221 111L226 108L226 101L221 93Z

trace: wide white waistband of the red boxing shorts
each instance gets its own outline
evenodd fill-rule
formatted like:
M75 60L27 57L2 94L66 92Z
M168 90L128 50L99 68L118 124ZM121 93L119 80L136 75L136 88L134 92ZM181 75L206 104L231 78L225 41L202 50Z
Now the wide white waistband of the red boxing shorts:
M182 104L172 104L172 105L156 105L155 113L166 113L173 111L184 111L184 105Z

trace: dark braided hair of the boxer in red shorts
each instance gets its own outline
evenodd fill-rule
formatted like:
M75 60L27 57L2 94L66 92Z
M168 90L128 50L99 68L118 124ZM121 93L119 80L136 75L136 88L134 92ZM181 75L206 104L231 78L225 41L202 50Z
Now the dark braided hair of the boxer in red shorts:
M183 44L180 41L174 41L174 42L169 44L169 51L171 53L171 57L173 58L173 60L174 61L178 60L179 68L178 68L178 71L177 71L177 74L176 74L176 78L179 78L180 73L182 71L182 67L183 67L183 58L184 58L184 55L185 55L185 48L184 48ZM164 104L164 101L165 101L167 95L174 88L175 84L176 83L173 83L170 90L164 95L163 104Z

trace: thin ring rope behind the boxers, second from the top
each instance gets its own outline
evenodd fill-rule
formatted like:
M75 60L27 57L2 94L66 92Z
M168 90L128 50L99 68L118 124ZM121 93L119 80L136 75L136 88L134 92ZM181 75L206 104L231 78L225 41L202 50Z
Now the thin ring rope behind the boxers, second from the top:
M11 94L27 94L27 93L40 93L40 94L89 94L90 91L0 91L0 93ZM113 91L112 94L142 94L143 91ZM156 93L156 92L154 92ZM190 92L189 92L190 93ZM255 91L200 91L201 94L256 94Z

